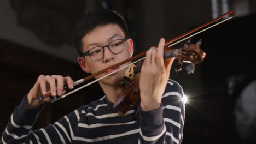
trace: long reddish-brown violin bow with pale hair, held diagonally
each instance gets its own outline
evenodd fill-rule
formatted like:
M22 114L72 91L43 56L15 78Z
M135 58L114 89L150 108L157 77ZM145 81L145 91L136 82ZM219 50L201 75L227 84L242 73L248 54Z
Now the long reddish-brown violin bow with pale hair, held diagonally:
M230 15L230 14L231 14L231 16L229 16L228 18L226 18L226 19L224 19L224 20L222 20L222 21L220 21L220 22L217 22L217 23L215 23L214 25L212 25L212 26L210 26L210 27L207 27L207 28L205 28L205 29L202 29L203 27L206 27L206 26L210 25L211 23L216 22L216 21L218 21L218 20L222 19L223 17L228 16L228 15ZM175 37L175 38L173 38L173 39L171 39L171 40L168 40L168 41L165 43L165 45L168 45L168 47L171 47L171 46L173 46L173 45L175 45L175 44L177 44L177 43L180 43L181 41L183 41L183 40L185 40L185 39L191 38L191 37L193 37L193 36L196 35L196 34L199 34L199 33L203 32L203 31L206 31L207 29L210 29L210 28L212 28L212 27L214 27L214 26L217 26L217 25L219 25L220 23L223 23L223 22L225 22L225 21L228 21L228 20L232 19L232 18L235 17L235 16L236 16L236 13L235 13L233 10L231 10L231 11L229 11L228 13L225 13L225 14L223 14L223 15L217 17L216 19L213 19L213 20L211 20L211 21L209 21L209 22L206 22L206 23L204 23L204 24L201 25L201 26L198 26L198 27L196 27L196 28L194 28L194 29L191 29L190 31L188 31L188 32L186 32L186 33L184 33L184 34L181 34L181 35L179 35L179 36L177 36L177 37ZM201 29L201 30L200 30L200 29ZM199 30L200 30L200 31L199 31ZM196 31L198 31L198 32L196 32ZM196 33L194 33L194 32L196 32ZM191 33L194 33L194 34L189 35L189 34L191 34ZM187 36L187 35L189 35L189 36L188 36L188 37L185 37L185 36ZM184 38L184 37L185 37L185 38ZM183 38L183 39L182 39L182 38ZM179 39L181 39L181 40L179 40ZM178 40L178 41L177 41L177 40ZM174 41L177 41L177 42L173 43ZM171 44L171 43L173 43L173 44ZM170 45L169 45L169 44L170 44ZM109 68L103 69L103 70L101 70L101 71L98 71L98 72L95 73L95 74L92 74L92 75L89 75L89 76L87 76L87 77L84 77L83 79L77 80L77 81L74 82L74 86L77 86L77 85L79 85L80 83L83 83L83 82L85 82L85 81L88 81L88 80L94 78L94 77L97 76L97 75L100 75L100 74L102 74L102 73L105 73L106 71L108 71L108 70L110 70L110 69L119 67L119 66L122 65L122 64L125 64L125 63L127 63L127 62L131 62L131 61L133 61L133 60L135 60L135 59L137 59L137 58L139 58L139 57L142 57L142 56L146 55L146 52L147 52L147 51L144 51L144 52L142 52L142 53L139 53L138 55L133 56L133 57L131 57L131 58L128 58L128 59L126 59L125 61L122 61L122 62L117 63L117 64L115 64L115 65L112 65L112 66L109 67ZM55 101L57 101L57 100L59 100L59 99L65 98L67 95L72 94L72 93L74 93L74 92L77 92L77 91L79 91L80 89L91 85L92 83L95 83L95 82L97 82L97 81L100 81L101 79L104 79L105 77L107 77L107 76L109 76L109 75L112 75L113 73L117 73L117 71L122 70L122 69L124 69L124 68L127 68L127 67L129 67L130 65L132 65L133 63L137 63L137 62L141 61L141 60L144 59L144 58L146 58L146 57L143 57L143 58L141 58L141 59L138 59L138 60L135 61L135 62L132 62L132 63L130 63L130 64L128 64L128 65L125 65L125 67L122 67L122 68L120 68L120 69L118 69L118 70L113 71L112 73L109 73L109 74L107 74L107 75L104 75L104 76L100 77L99 79L96 79L96 80L94 80L94 81L92 81L92 82L89 82L89 83L87 83L86 85L81 86L81 87L79 87L79 88L77 88L77 89L74 89L74 90L71 91L71 92L68 92L68 93L66 93L66 94L63 94L63 95L61 95L61 96L53 97L53 98L50 99L50 102L51 102L51 103L54 103ZM67 89L67 86L65 86L64 89ZM48 94L44 95L43 97L40 97L39 99L42 100L42 99L47 98L47 97L50 97L50 96L51 96L51 93L48 93Z

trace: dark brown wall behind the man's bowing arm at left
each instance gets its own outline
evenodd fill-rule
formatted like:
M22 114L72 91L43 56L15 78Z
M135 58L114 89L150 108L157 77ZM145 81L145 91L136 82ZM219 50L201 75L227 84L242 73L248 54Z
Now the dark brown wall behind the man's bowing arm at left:
M11 113L33 87L40 74L71 76L74 81L88 76L88 74L80 69L78 63L34 51L30 47L24 47L8 40L0 39L0 45L1 134L9 121ZM95 84L55 103L46 103L34 129L46 127L78 107L97 100L102 96L103 92L100 86Z

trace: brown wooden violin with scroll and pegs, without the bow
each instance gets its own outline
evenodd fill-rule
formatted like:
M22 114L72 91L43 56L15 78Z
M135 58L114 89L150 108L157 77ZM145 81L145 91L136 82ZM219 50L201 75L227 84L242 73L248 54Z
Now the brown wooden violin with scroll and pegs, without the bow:
M171 49L168 45L165 45L164 62L174 57L178 60L179 65L179 69L176 69L176 71L182 70L182 65L187 63L185 66L187 73L194 73L195 64L201 63L206 56L206 53L200 49L201 43L202 40L199 40L195 44L191 44L190 38L180 49ZM120 83L120 87L123 89L119 99L113 105L120 116L126 116L127 111L131 110L136 101L141 99L139 96L139 72L143 62L144 59L138 62L137 65L130 65L125 71L124 80Z

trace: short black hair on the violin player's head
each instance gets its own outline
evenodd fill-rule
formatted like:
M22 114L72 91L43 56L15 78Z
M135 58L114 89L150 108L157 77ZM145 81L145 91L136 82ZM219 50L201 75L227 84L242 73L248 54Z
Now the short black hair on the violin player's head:
M72 43L79 56L83 55L82 38L96 27L108 24L117 24L123 30L125 37L129 37L126 20L117 11L107 9L90 11L82 17L72 32Z

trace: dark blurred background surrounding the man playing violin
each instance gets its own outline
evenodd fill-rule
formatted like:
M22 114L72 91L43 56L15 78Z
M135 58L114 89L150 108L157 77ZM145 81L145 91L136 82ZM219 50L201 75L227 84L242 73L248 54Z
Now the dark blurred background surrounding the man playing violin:
M202 39L201 48L206 52L194 74L175 73L174 68L170 74L170 79L181 84L189 99L183 143L254 143L249 140L255 139L255 116L252 123L245 125L250 135L242 137L234 113L241 92L255 80L256 3L216 2L218 16L228 10L235 10L237 16L193 37ZM222 2L228 4L228 10L225 11ZM73 26L87 11L109 8L127 17L136 55L156 46L161 37L172 39L212 20L212 7L210 0L1 2L1 134L11 113L40 74L71 76L73 80L88 76L76 62L77 55L70 44ZM95 84L46 104L34 129L46 127L102 95L100 86ZM256 97L255 93L252 97Z

